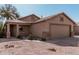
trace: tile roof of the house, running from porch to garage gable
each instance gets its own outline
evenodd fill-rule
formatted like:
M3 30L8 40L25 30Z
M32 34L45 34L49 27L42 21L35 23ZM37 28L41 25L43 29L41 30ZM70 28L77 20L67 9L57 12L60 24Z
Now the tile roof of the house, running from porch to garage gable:
M73 24L76 24L70 17L68 17L64 12L62 12L62 13L59 13L59 14L56 14L56 15L52 15L52 16L48 16L48 17L43 17L43 18L39 18L37 21L35 21L34 23L39 23L39 22L43 22L43 21L46 21L46 20L49 20L50 18L54 18L54 17L56 17L56 16L58 16L58 15L65 15ZM34 15L34 14L32 14L32 15ZM32 16L32 15L29 15L29 16ZM27 17L29 17L29 16L25 16L25 17L22 17L22 18L27 18ZM36 16L36 15L34 15L34 16ZM38 16L36 16L36 17L38 17ZM20 19L22 19L22 18L20 18ZM20 19L18 19L18 20L7 20L6 22L11 22L11 23L33 23L33 22L27 22L27 21L21 21Z

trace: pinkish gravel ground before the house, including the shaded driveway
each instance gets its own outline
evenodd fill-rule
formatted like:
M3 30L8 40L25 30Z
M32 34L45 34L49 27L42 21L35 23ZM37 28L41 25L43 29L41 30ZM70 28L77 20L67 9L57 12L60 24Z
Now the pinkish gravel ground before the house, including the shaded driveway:
M65 38L47 42L37 40L0 39L1 55L69 55L79 54L79 38ZM76 42L76 43L75 43ZM59 44L61 43L61 44ZM65 45L64 45L65 44ZM75 44L75 45L74 45ZM5 45L13 45L6 48Z

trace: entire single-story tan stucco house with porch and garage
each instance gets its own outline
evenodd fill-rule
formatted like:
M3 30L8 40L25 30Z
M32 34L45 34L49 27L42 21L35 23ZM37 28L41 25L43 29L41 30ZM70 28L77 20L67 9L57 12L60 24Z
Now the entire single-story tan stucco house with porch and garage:
M44 18L32 14L18 20L7 20L6 37L29 34L43 38L71 37L74 35L75 25L65 13Z

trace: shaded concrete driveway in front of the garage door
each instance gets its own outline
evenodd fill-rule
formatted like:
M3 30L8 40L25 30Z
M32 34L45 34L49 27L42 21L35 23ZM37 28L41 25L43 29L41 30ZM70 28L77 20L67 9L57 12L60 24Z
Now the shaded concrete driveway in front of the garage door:
M77 47L79 46L79 36L74 36L71 38L61 38L61 39L52 39L47 40L48 43L56 44L59 46L73 46Z

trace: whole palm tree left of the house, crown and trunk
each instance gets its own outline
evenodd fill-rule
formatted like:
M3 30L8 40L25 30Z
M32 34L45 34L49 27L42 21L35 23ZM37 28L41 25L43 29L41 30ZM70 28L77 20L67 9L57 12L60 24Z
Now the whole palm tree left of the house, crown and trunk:
M5 22L6 20L15 20L19 18L19 14L17 12L17 9L12 6L11 4L6 4L2 7L0 7L0 19L3 21L0 21L0 34L3 32L3 29L5 28Z

